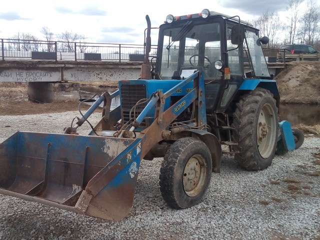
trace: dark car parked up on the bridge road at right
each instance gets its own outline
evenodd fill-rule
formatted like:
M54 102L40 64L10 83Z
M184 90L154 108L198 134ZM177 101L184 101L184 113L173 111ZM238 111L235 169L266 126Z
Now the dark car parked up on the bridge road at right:
M313 46L306 44L286 44L280 47L284 49L285 61L299 61L301 60L300 56L297 54L303 53L303 60L317 61L319 60L318 56L309 56L308 54L319 53ZM283 61L283 51L279 52L278 60Z

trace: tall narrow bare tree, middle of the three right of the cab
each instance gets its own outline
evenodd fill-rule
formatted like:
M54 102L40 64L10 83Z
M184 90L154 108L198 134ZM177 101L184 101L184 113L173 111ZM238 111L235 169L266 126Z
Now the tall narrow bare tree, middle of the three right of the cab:
M299 12L300 12L300 4L304 0L289 0L288 6L286 10L288 11L289 16L289 24L287 24L284 28L288 30L288 35L285 39L285 42L288 44L294 43L298 34L298 22L299 22Z

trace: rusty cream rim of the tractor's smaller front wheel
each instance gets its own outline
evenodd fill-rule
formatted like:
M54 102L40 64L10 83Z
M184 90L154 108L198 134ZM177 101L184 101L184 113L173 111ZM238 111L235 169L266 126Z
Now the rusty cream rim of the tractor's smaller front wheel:
M183 169L183 189L188 196L199 194L205 184L207 166L201 154L189 158Z

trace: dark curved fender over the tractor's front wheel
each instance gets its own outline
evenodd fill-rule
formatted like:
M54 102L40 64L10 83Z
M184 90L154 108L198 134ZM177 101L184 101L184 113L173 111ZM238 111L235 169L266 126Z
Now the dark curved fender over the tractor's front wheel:
M185 131L192 132L193 137L200 139L207 145L212 158L212 172L220 173L222 149L218 138L212 133L203 130L187 129Z

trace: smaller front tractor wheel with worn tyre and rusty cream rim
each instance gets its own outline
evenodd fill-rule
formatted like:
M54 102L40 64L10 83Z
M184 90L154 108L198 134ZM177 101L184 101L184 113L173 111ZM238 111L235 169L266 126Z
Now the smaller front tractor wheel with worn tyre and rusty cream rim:
M208 147L200 140L176 140L163 157L159 185L163 199L176 209L199 203L211 179L212 160Z

